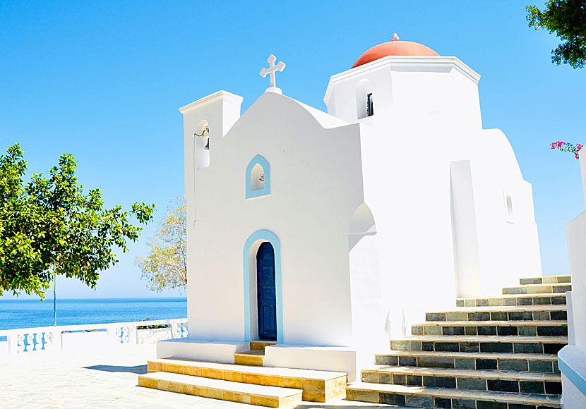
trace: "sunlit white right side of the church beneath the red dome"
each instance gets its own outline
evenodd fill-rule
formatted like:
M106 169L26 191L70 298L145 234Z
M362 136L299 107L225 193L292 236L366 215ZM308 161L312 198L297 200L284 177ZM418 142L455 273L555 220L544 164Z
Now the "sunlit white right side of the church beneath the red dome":
M506 136L482 130L478 80L455 57L389 56L334 75L325 93L329 114L361 123L364 197L395 336L456 295L498 294L542 274L531 185ZM367 92L374 115L360 118Z

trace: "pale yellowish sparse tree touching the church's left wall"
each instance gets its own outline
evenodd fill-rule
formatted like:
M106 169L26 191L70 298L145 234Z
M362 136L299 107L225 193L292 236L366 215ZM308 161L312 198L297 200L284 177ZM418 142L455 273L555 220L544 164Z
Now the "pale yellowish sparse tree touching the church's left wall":
M155 235L147 241L147 257L136 258L150 291L187 286L186 209L183 198L170 205Z

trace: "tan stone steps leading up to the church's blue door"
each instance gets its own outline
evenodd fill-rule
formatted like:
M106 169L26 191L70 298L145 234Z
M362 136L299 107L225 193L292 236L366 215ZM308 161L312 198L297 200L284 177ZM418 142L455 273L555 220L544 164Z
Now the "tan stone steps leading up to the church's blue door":
M148 374L138 376L138 386L271 408L345 397L345 372L263 367L264 348L273 344L251 341L249 351L234 353L234 364L149 360Z

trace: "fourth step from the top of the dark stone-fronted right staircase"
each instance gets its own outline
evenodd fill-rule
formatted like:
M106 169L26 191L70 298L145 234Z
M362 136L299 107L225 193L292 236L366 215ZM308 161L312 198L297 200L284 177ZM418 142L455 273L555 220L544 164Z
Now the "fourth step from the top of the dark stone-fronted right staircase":
M511 307L457 307L427 312L426 321L566 321L566 305L522 305Z

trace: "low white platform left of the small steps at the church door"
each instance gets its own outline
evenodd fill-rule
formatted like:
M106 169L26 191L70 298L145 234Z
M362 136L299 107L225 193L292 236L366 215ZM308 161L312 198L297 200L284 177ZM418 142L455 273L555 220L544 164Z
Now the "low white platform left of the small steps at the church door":
M250 343L239 341L175 338L157 342L157 358L174 357L233 364L234 353L247 350L250 350Z

